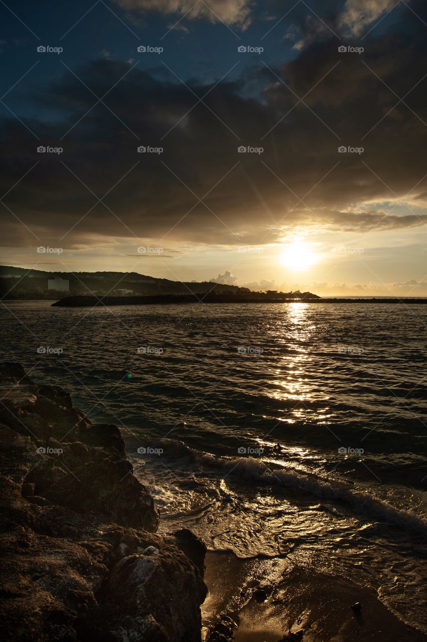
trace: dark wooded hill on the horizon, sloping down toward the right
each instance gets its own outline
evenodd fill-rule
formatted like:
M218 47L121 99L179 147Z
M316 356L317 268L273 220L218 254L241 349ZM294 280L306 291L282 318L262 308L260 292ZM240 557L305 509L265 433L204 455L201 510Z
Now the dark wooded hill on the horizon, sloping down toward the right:
M66 279L69 291L49 290L48 279ZM0 266L0 296L5 299L60 299L67 295L183 295L183 294L259 296L248 288L214 284L209 281L170 281L137 272L45 272L10 265ZM275 294L275 292L273 292ZM271 296L272 291L269 291ZM282 295L283 293L277 293ZM290 298L317 298L309 292L288 293Z

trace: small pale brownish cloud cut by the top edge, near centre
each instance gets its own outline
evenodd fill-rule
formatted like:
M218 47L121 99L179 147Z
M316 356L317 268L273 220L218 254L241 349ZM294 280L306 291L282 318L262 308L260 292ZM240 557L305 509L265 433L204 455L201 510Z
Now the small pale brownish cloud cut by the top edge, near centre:
M250 16L249 0L114 0L123 10L130 12L158 12L175 14L187 20L207 19L210 22L224 22L247 26Z

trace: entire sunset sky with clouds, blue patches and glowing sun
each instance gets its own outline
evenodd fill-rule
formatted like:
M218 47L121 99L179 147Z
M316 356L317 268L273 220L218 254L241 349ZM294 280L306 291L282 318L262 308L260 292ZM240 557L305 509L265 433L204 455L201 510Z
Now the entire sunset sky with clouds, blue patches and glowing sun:
M423 0L0 0L0 61L2 265L427 296Z

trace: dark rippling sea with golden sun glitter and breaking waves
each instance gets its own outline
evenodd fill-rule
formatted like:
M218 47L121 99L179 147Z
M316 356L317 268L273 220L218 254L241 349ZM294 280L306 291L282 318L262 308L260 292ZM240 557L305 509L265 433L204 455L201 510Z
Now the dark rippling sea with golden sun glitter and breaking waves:
M427 306L0 307L2 358L121 426L162 531L347 577L427 632Z

